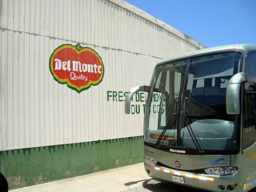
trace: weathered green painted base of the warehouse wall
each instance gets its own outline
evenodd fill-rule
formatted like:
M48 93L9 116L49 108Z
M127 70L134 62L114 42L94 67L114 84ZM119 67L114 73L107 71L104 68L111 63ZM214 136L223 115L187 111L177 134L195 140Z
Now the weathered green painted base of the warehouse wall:
M0 152L9 190L143 161L143 136Z

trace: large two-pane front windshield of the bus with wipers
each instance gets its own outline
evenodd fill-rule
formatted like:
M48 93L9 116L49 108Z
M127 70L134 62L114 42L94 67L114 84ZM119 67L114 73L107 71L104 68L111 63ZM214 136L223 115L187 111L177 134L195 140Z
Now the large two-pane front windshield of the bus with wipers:
M146 103L145 142L170 150L237 150L237 117L226 113L226 87L241 58L225 52L157 66Z

